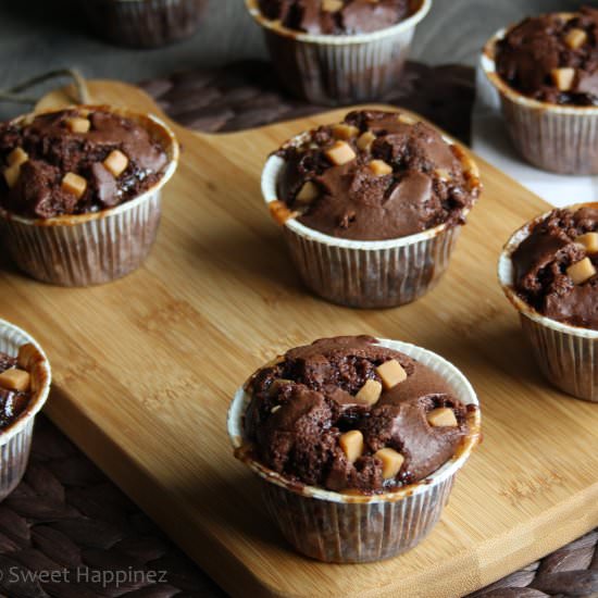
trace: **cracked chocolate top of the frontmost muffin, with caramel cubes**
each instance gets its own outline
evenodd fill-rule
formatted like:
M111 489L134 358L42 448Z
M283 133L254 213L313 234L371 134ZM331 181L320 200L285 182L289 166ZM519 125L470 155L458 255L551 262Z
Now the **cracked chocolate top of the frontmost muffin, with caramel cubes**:
M435 372L369 336L323 338L247 383L256 458L300 483L375 494L423 479L468 433L468 409Z

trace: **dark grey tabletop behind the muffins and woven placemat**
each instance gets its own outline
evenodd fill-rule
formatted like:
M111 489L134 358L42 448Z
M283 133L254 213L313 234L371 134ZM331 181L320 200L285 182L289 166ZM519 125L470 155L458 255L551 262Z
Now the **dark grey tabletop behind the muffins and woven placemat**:
M0 0L0 88L63 66L77 66L88 77L139 82L265 57L261 32L248 16L244 0L210 0L197 35L157 50L121 49L98 39L82 12L85 1ZM473 65L486 38L501 26L526 14L580 4L572 0L434 0L418 28L412 58L432 64ZM0 117L20 111L14 104L0 104Z

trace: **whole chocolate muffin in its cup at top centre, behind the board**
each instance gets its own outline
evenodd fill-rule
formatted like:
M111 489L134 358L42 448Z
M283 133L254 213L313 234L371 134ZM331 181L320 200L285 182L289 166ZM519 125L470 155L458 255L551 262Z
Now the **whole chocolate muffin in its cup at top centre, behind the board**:
M273 66L314 104L376 100L396 85L431 0L246 0Z

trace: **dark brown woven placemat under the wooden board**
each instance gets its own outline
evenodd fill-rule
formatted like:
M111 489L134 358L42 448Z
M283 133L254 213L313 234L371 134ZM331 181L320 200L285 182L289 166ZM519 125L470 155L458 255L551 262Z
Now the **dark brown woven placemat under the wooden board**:
M289 99L261 62L178 73L141 87L175 121L210 133L328 110ZM473 98L473 70L409 63L379 102L414 110L468 140ZM472 596L598 596L597 541L598 530ZM1 596L220 598L224 593L40 416L26 475L0 503Z

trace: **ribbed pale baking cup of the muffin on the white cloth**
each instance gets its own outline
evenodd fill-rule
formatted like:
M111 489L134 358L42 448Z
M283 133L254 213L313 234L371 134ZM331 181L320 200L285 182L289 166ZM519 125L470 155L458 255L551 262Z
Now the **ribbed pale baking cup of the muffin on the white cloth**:
M571 16L572 13L562 13ZM524 96L496 72L496 45L486 43L481 65L498 91L502 114L519 153L538 169L561 174L598 174L598 107L560 105Z

